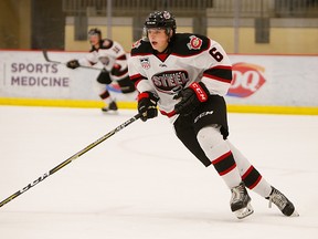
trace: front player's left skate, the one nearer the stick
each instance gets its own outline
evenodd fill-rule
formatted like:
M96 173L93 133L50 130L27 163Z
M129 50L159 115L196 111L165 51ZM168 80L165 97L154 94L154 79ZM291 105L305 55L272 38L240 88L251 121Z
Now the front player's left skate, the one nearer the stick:
M231 188L231 210L239 219L245 218L254 212L251 202L251 197L247 194L244 183Z

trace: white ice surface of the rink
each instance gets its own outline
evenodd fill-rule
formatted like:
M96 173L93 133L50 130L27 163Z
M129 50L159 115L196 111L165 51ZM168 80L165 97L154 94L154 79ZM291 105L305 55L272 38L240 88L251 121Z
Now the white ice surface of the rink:
M0 107L0 201L135 111ZM230 190L176 138L137 121L0 208L0 239L274 239L318 237L318 116L230 114L230 139L295 204L284 217L251 193L239 220Z

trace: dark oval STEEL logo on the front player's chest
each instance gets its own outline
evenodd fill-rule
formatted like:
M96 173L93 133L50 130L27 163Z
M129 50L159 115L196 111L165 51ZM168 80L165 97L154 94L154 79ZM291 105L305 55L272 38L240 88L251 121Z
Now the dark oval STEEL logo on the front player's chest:
M189 75L187 71L166 71L155 74L151 81L158 91L172 95L186 86Z

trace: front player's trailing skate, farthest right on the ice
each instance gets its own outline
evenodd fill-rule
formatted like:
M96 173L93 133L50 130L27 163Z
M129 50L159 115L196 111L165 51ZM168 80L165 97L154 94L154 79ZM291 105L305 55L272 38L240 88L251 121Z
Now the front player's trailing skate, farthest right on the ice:
M278 189L272 186L272 193L269 197L266 197L269 200L269 208L272 207L272 202L274 202L279 210L287 217L298 217L299 214L295 210L294 205L288 198L283 195Z

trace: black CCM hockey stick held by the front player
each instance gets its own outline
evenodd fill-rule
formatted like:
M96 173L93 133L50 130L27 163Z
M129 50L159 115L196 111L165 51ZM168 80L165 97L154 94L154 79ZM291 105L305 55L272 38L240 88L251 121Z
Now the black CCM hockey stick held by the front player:
M129 124L131 124L132 122L137 121L138 118L140 118L141 114L137 114L135 116L132 116L131 118L129 118L128 121L124 122L121 125L119 125L118 127L116 127L115 129L110 131L109 133L105 134L104 136L102 136L100 138L98 138L97 141L95 141L94 143L89 144L88 146L86 146L85 148L83 148L82 150L77 152L76 154L74 154L72 157L67 158L66 160L62 162L61 164L59 164L56 167L52 168L51 170L49 170L47 173L41 175L39 178L36 178L35 180L33 180L32 183L30 183L29 185L26 185L25 187L23 187L21 190L18 190L17 193L12 194L10 197L6 198L4 200L2 200L0 202L0 207L2 207L3 205L8 204L9 201L11 201L12 199L17 198L18 196L24 194L26 190L29 190L30 188L32 188L33 186L38 185L39 183L43 181L45 178L47 178L49 176L53 175L54 173L56 173L57 170L60 170L61 168L65 167L66 165L68 165L71 162L75 160L76 158L78 158L80 156L82 156L83 154L87 153L88 150L91 150L92 148L94 148L95 146L97 146L98 144L100 144L102 142L106 141L107 138L109 138L110 136L113 136L114 134L116 134L117 132L121 131L123 128L127 127Z

